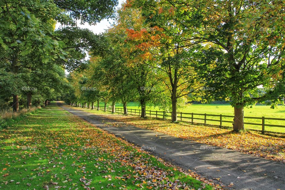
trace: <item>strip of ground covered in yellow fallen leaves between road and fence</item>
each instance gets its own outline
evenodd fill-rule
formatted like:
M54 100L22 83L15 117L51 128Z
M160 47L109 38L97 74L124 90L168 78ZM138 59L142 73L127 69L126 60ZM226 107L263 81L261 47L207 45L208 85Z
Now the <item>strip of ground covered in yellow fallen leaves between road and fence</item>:
M220 146L285 163L284 138L261 135L255 132L232 132L232 130L229 129L192 125L185 122L171 123L170 121L151 118L141 119L132 115L125 116L102 112L92 113L137 127L166 133L175 137L193 140L208 145Z

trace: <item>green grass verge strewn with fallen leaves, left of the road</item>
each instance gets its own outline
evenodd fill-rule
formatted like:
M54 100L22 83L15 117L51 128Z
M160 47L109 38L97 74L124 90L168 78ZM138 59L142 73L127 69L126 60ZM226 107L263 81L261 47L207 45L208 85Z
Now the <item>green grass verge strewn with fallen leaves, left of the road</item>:
M9 124L0 130L1 189L169 189L178 181L212 189L55 104Z

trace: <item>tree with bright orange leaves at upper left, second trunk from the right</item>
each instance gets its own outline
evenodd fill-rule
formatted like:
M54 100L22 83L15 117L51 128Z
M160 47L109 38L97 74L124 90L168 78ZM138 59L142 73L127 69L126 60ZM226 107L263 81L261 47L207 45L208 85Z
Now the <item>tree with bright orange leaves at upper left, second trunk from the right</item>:
M148 24L146 26L150 28L127 30L127 37L144 51L144 63L161 73L156 77L159 76L158 80L170 92L172 122L176 122L178 99L190 94L194 99L194 93L198 93L202 87L192 66L200 45L189 43L191 36L172 18L174 9L170 2L132 1L131 4L132 7L140 8L142 17Z

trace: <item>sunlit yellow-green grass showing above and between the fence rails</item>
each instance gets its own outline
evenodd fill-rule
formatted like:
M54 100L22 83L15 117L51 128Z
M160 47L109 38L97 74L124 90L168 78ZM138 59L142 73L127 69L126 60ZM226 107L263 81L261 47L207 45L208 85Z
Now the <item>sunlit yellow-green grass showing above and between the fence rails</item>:
M128 109L140 109L138 107L137 102L130 102L128 105ZM100 103L100 106L104 106L104 104ZM117 104L116 107L123 107L121 104ZM147 110L158 110L158 107L147 107ZM130 111L130 110L129 110ZM223 104L192 104L188 105L182 110L179 110L179 112L183 113L200 113L200 114L213 114L213 115L234 115L234 110L231 107L231 105L223 105ZM147 115L149 116L149 112L147 112ZM170 114L168 114L170 118ZM248 117L267 117L267 118L285 118L285 106L277 106L275 109L271 109L270 106L266 105L255 105L252 108L245 108L244 109L244 115ZM153 115L152 115L153 116ZM180 114L178 114L180 116ZM191 115L183 115L183 117L191 117ZM203 115L195 115L195 118L204 118ZM214 116L207 116L208 119L216 119L219 120L219 117L214 117ZM178 118L180 119L180 118ZM232 121L233 118L229 117L223 117L223 120L225 121ZM191 121L191 119L183 119L184 121ZM258 123L262 124L261 119L249 119L245 118L245 122L248 123ZM195 123L204 123L203 120L198 120L194 119ZM213 124L213 125L219 125L219 121L207 121L207 124ZM285 121L278 121L278 120L265 120L265 124L274 124L274 125L283 125L285 126ZM223 126L230 126L232 127L231 123L223 123ZM262 126L257 126L257 125L245 125L246 129L257 129L261 130ZM271 126L266 126L265 127L266 131L272 131L272 132L282 132L285 133L285 127L271 127Z

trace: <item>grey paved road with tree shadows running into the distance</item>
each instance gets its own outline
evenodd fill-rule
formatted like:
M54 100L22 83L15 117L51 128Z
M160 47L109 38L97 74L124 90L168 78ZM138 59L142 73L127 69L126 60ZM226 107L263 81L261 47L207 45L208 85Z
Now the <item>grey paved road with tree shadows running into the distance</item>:
M183 140L68 106L61 105L61 107L101 129L152 151L156 156L183 169L195 170L208 179L220 178L224 185L233 183L231 189L285 190L285 164L283 163ZM119 124L119 127L114 124Z

